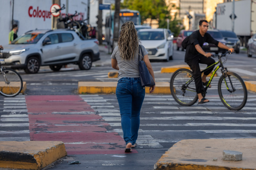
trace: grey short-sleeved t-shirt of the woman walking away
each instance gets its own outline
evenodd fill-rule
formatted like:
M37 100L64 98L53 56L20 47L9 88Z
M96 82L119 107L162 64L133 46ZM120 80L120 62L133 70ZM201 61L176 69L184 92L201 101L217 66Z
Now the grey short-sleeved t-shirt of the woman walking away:
M148 54L147 50L143 45L141 45L144 56ZM141 52L140 52L141 54ZM118 46L114 49L111 58L117 60L117 64L119 67L119 75L118 80L123 77L139 77L139 60L138 53L135 54L134 60L122 60L120 57L120 52ZM140 60L142 60L142 55L140 55Z

